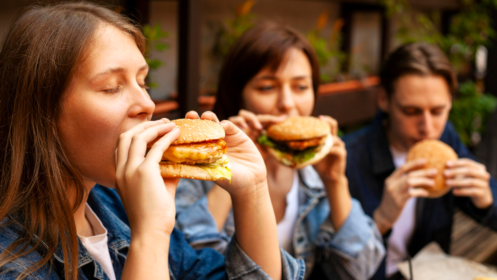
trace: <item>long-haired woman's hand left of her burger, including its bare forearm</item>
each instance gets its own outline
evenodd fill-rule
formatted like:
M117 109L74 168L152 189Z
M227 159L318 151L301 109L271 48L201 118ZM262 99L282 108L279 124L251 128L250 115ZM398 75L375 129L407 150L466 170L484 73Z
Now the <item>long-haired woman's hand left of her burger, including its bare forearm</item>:
M119 137L116 189L128 215L131 242L121 279L169 279L168 254L179 179L163 179L159 162L179 136L167 119L147 121ZM147 143L162 136L147 153Z

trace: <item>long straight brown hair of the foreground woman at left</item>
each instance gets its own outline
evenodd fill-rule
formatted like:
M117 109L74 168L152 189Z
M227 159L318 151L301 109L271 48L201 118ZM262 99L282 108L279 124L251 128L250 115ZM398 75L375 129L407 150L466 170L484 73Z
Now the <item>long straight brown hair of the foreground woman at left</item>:
M29 7L11 23L1 45L0 227L15 222L22 232L0 254L0 268L33 251L42 256L18 279L52 265L58 246L65 279L78 278L73 214L85 190L62 148L56 121L86 46L105 24L130 34L145 52L139 28L87 2Z

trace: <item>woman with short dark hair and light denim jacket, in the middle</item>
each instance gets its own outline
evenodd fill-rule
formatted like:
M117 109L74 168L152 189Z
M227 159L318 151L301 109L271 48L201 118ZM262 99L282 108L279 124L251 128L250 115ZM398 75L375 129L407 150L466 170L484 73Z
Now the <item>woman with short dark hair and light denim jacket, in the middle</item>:
M319 86L319 64L310 44L295 30L257 25L233 44L220 73L214 111L256 139L268 125L287 116L308 116ZM345 178L346 151L331 126L333 147L314 167L294 170L256 143L268 173L271 201L283 249L306 262L310 277L320 264L332 279L368 279L385 249L378 229L360 203L351 199ZM176 195L178 227L194 247L221 252L234 234L231 201L220 187L180 181ZM318 272L313 277L321 277Z

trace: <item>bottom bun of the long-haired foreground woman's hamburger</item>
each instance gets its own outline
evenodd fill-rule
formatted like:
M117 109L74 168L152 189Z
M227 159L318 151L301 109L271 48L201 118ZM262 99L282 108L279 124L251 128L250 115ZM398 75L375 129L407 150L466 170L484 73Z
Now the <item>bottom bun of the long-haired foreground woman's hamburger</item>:
M203 181L219 181L228 179L226 177L214 177L207 170L196 165L160 163L159 166L161 167L161 176L163 178L186 178ZM230 164L228 163L227 166L229 168Z

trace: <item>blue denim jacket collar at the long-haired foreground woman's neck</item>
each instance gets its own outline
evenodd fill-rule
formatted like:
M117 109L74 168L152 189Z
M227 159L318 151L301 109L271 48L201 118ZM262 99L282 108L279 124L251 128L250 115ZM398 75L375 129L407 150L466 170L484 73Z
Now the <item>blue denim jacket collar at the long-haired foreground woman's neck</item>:
M98 186L98 185L95 185ZM127 224L121 221L99 198L100 191L93 187L88 194L88 205L95 212L97 217L102 221L103 226L107 229L108 246L113 250L120 250L129 247L131 241L131 230ZM83 246L80 240L78 250L78 268L93 262L93 258ZM64 256L60 245L54 255L60 263L64 263Z

